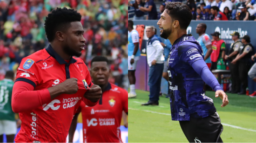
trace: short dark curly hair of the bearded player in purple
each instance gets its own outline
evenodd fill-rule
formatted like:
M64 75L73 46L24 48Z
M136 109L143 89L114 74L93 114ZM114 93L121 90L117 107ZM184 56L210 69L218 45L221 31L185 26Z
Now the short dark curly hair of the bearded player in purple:
M187 5L182 2L168 2L165 9L173 20L179 21L181 29L188 28L192 20L192 13Z

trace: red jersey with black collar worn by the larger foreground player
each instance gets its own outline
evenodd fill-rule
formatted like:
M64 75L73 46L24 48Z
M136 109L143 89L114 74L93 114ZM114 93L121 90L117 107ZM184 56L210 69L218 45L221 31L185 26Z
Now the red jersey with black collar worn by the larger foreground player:
M51 45L22 59L16 81L32 84L35 91L60 84L67 78L78 79L77 93L61 94L37 109L19 113L22 123L15 142L66 142L74 114L92 85L88 68L80 58L71 58L67 63Z

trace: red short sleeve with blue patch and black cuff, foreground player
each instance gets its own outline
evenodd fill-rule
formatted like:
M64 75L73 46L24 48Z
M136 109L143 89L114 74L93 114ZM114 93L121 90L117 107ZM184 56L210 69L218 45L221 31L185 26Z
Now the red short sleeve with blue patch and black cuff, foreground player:
M23 58L17 69L16 81L27 82L34 87L40 83L40 70L33 58Z

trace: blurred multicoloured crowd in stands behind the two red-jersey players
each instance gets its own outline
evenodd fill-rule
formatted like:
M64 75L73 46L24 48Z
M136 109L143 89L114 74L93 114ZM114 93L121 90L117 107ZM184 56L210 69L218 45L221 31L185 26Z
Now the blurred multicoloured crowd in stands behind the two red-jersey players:
M106 56L111 61L109 82L128 90L127 0L0 0L0 80L6 71L17 71L22 58L48 46L44 20L56 7L81 13L86 47L80 58L88 68L94 56ZM75 142L82 138L81 123L80 115ZM128 142L128 129L121 126L121 134Z

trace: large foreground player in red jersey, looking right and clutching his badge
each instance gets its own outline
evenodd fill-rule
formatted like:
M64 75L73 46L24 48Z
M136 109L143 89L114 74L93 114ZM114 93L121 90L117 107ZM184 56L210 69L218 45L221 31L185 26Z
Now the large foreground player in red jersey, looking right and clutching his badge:
M87 66L73 57L85 45L80 21L73 9L55 9L45 20L50 45L22 59L12 94L12 109L22 121L15 142L66 142L81 101L94 106L101 98Z

